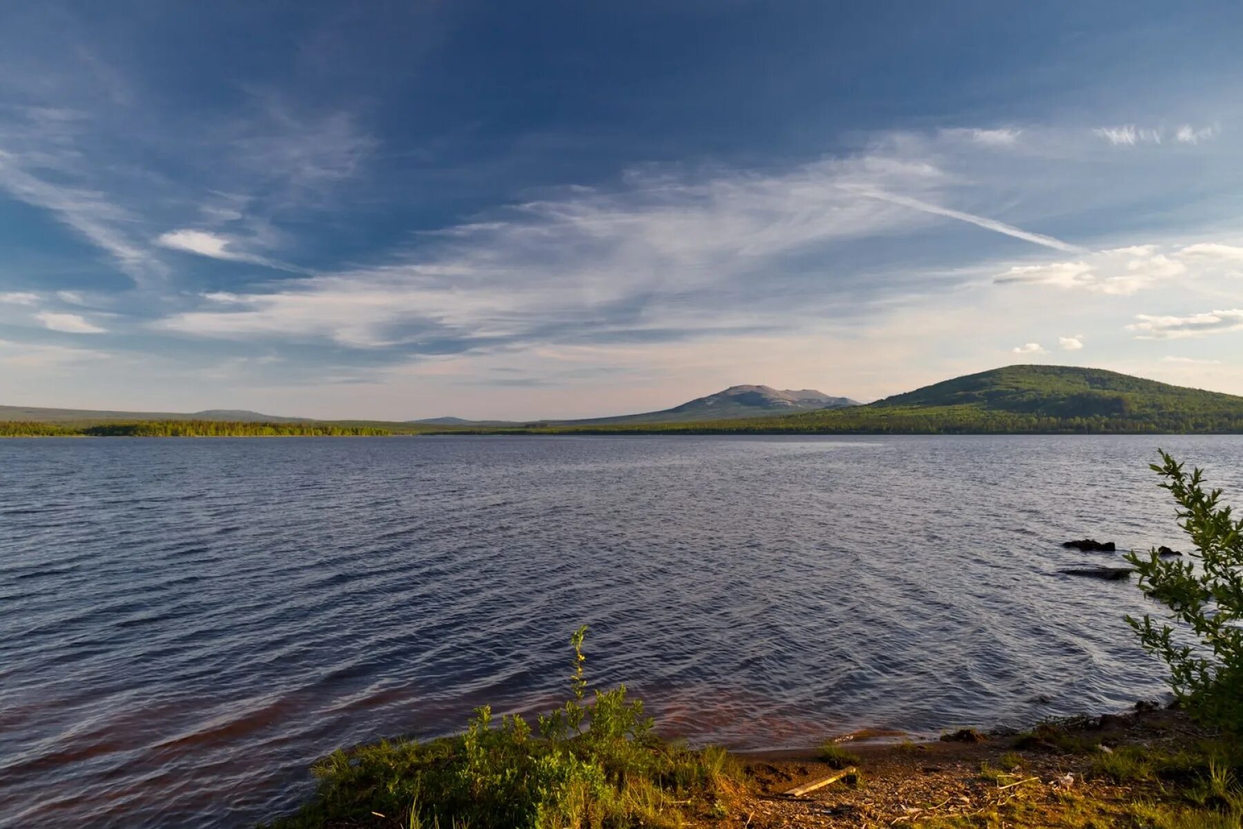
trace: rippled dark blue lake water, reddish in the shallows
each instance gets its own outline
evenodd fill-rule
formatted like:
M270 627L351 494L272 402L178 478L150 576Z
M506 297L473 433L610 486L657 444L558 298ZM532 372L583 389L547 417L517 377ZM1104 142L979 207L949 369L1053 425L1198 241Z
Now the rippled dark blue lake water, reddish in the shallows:
M245 827L352 743L625 682L692 742L1158 697L1117 563L1239 436L0 441L0 825Z

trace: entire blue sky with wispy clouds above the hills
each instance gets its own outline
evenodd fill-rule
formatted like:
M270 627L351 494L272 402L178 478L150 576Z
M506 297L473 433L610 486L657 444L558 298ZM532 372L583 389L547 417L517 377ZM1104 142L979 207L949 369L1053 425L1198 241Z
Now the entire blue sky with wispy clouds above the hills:
M0 9L0 403L1243 394L1238 2Z

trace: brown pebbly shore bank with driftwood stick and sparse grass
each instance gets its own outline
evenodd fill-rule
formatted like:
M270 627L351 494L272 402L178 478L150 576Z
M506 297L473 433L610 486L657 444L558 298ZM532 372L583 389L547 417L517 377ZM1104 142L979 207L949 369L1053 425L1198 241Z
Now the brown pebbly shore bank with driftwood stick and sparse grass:
M589 810L544 817L538 827L687 829L845 829L916 827L1218 829L1243 825L1241 758L1178 710L1140 703L1121 715L1048 720L1028 731L948 732L911 741L848 736L820 748L713 756L709 777L648 804L645 815L604 819ZM653 743L645 751L666 751ZM684 751L685 749L674 749ZM712 751L712 749L706 749ZM690 752L687 757L696 752ZM347 761L360 767L365 757ZM326 779L321 771L321 779ZM373 781L374 782L374 781ZM354 794L365 793L354 792ZM321 787L321 798L324 797ZM342 797L341 792L329 798ZM392 803L392 800L389 802ZM428 807L331 815L310 805L278 819L295 827L502 824L428 820Z

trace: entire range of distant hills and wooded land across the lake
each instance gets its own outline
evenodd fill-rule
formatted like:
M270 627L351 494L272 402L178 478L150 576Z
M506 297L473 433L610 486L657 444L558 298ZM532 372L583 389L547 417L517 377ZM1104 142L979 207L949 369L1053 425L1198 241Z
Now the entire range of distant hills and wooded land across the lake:
M0 424L135 420L327 421L215 409L191 414L0 406ZM933 383L868 405L812 389L735 385L672 409L618 418L527 424L434 418L336 421L406 434L1241 434L1243 396L1070 365L1007 365ZM0 433L5 429L0 428ZM37 430L36 430L37 431ZM9 434L26 434L9 429Z

